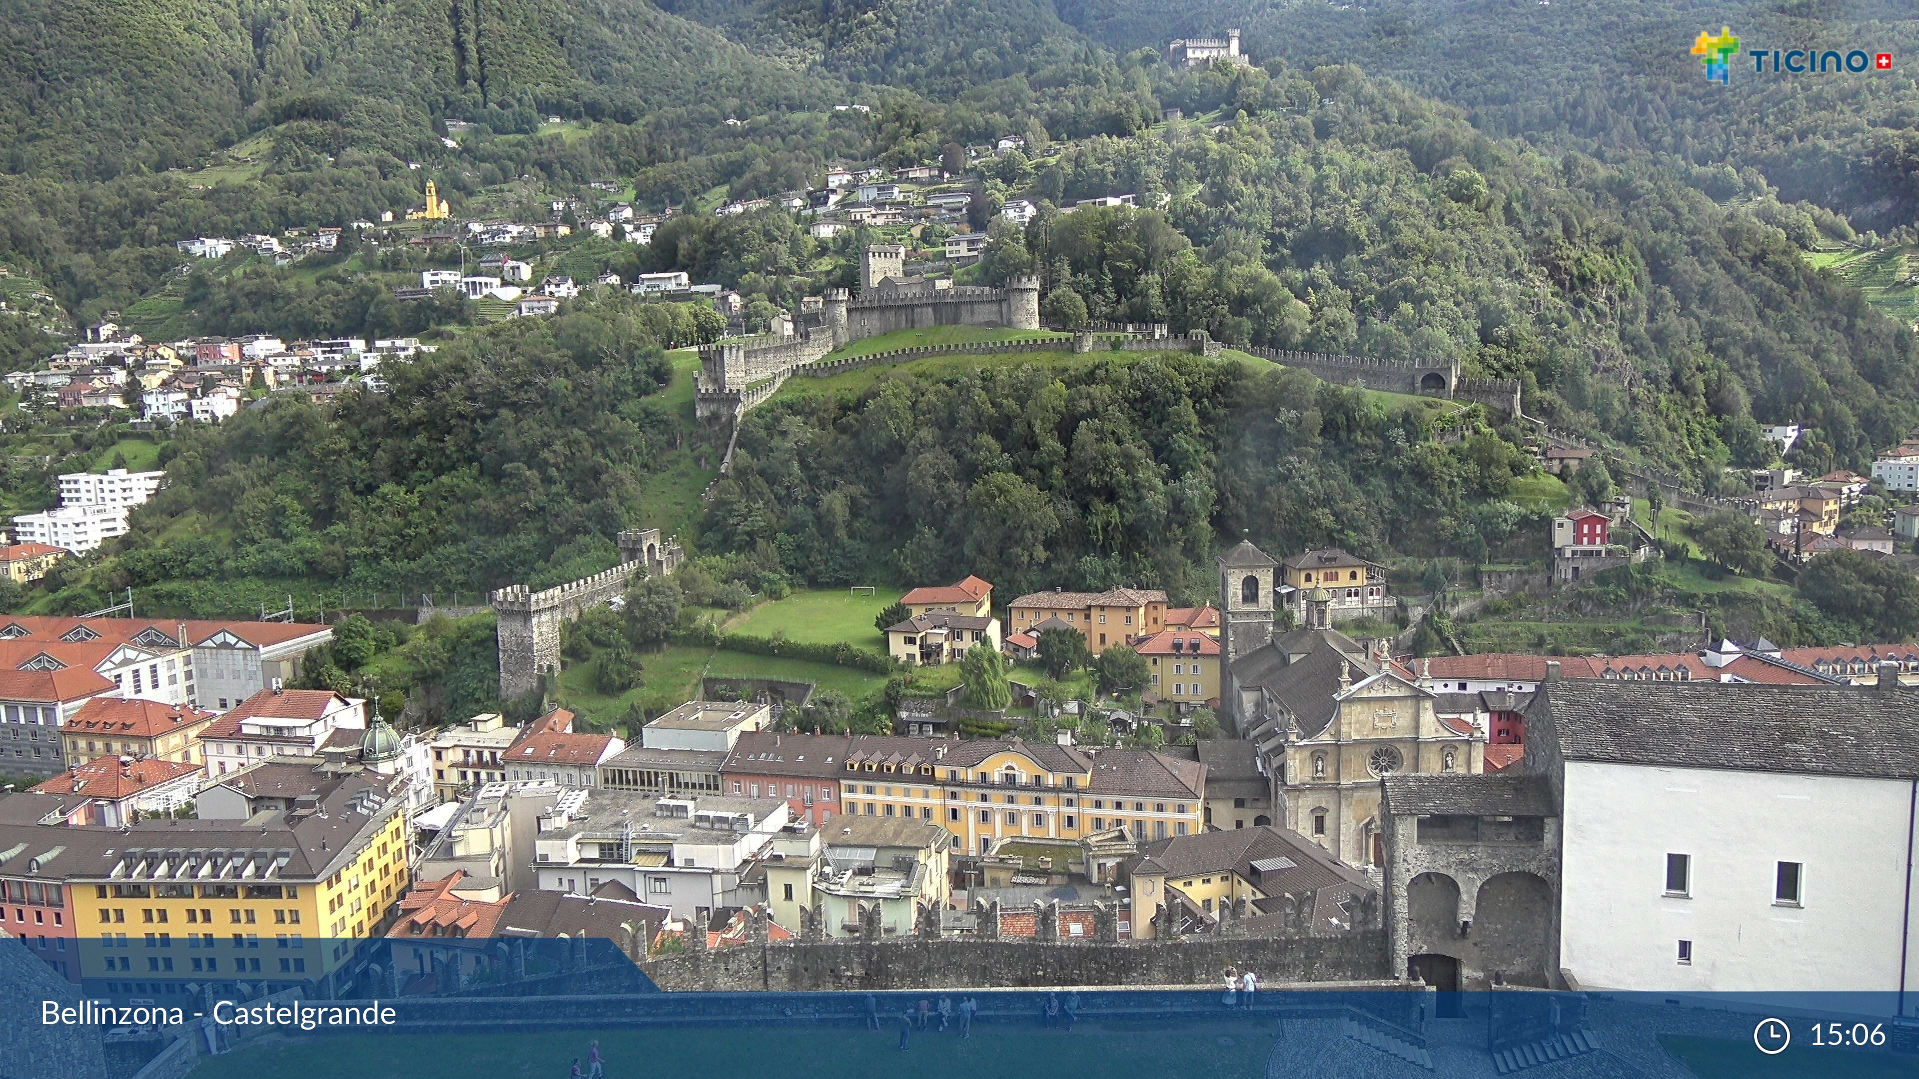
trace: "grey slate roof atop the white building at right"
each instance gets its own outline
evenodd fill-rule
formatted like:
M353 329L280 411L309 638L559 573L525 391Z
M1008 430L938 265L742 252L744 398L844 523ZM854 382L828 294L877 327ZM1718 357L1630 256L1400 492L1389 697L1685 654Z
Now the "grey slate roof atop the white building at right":
M1919 691L1744 682L1558 680L1551 714L1566 760L1813 776L1919 776Z

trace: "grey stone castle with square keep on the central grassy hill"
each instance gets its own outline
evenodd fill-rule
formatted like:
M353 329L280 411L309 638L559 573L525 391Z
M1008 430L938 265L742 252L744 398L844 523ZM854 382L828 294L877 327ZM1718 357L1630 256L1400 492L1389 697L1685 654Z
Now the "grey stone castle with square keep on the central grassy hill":
M817 323L791 338L700 346L702 420L729 420L764 401L796 367L862 338L929 326L1040 328L1040 280L1015 276L1006 288L952 286L906 273L906 248L875 244L860 253L860 296L829 288Z

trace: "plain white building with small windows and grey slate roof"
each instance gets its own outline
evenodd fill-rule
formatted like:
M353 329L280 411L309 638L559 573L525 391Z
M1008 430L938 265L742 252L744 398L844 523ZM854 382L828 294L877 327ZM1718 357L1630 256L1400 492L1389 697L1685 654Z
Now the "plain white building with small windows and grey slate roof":
M1919 691L1554 668L1526 762L1562 814L1560 970L1587 989L1919 991Z

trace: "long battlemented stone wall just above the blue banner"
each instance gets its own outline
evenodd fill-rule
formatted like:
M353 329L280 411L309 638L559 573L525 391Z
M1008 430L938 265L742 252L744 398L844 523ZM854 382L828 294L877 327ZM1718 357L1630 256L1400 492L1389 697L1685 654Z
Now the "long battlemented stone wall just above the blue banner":
M1215 985L1236 966L1263 981L1384 979L1386 935L1182 937L1138 943L994 939L779 941L643 964L668 991Z

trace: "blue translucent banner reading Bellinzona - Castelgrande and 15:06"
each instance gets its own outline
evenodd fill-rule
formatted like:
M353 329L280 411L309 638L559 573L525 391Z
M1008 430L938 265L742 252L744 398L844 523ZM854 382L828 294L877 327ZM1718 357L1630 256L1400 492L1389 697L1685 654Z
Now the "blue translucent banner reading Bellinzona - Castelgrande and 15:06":
M10 1079L1919 1077L1919 1023L1869 993L662 993L610 941L468 937L69 939L44 954L4 939L0 985Z

